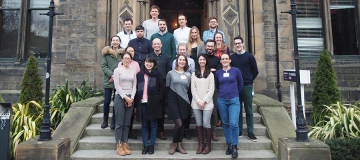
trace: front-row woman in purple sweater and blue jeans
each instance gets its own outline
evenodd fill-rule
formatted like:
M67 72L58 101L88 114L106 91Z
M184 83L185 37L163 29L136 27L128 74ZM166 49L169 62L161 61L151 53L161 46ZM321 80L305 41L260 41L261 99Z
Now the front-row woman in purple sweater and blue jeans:
M238 117L240 113L239 92L243 86L241 72L231 67L228 54L220 56L222 69L215 73L215 86L218 89L217 109L222 120L222 128L227 142L226 154L237 157Z

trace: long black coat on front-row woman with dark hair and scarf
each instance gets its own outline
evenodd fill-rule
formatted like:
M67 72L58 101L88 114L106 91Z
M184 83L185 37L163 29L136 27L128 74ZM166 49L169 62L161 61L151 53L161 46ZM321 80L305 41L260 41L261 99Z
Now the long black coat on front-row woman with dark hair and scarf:
M141 70L136 74L136 120L140 120L141 115L141 98L144 86L144 74L148 75L147 80L147 105L146 105L146 119L158 119L163 116L162 113L162 98L165 84L162 80L162 76L157 70L152 70L150 73Z

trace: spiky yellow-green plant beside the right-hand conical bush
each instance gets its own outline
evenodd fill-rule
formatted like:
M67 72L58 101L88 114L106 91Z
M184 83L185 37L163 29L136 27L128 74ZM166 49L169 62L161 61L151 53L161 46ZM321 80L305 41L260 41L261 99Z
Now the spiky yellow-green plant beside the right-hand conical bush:
M359 101L354 105L342 104L341 102L329 106L323 105L325 107L323 111L329 114L313 126L308 135L319 140L360 138L360 108L357 107L358 103Z

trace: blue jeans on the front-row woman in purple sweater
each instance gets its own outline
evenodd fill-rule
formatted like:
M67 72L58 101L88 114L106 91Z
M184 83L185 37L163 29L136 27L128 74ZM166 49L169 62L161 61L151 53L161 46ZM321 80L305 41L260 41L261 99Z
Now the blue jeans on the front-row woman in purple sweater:
M217 109L220 113L226 142L237 145L239 134L238 117L240 113L239 98L217 97Z

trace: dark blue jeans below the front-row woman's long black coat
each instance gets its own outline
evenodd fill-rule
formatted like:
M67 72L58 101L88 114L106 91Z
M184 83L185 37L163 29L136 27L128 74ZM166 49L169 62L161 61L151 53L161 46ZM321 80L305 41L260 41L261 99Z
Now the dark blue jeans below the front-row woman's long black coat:
M141 103L141 135L142 135L142 142L144 146L154 146L156 133L157 133L157 126L156 126L156 119L146 119L146 105L147 103ZM150 122L150 143L147 141L147 125L148 121Z

